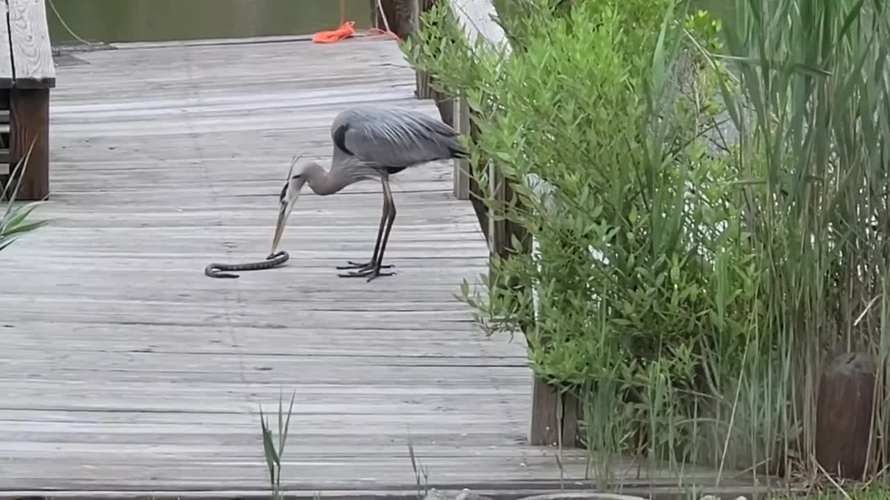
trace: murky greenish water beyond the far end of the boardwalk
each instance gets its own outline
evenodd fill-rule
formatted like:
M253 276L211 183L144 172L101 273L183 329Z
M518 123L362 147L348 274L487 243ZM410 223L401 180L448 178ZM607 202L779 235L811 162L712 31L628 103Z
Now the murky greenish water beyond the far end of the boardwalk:
M500 0L499 4L509 4ZM724 14L732 0L693 0ZM46 0L53 44L303 35L336 28L342 15L370 25L368 0ZM53 6L59 15L53 12Z

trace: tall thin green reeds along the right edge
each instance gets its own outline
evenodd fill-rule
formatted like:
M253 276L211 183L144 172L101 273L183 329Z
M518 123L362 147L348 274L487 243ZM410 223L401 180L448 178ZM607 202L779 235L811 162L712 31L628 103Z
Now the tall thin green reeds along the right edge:
M724 380L740 389L737 439L757 445L748 461L783 461L767 470L814 473L817 383L830 358L886 359L877 299L890 257L888 14L863 0L736 0L724 23L740 88L724 90L740 129L732 161L759 270L749 321L768 350ZM886 428L890 406L878 401L875 426ZM886 440L875 445L874 458L886 457Z

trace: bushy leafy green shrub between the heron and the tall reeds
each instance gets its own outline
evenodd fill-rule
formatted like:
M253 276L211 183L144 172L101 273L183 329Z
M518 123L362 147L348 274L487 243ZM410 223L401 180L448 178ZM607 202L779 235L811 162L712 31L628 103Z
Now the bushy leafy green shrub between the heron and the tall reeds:
M484 298L465 300L488 331L524 330L537 375L584 399L593 448L690 460L684 416L708 390L702 338L743 351L736 302L754 290L740 211L724 199L732 171L706 138L719 71L685 50L684 28L711 45L715 27L702 14L676 22L684 11L668 0L551 4L503 16L522 44L510 57L453 41L444 10L408 47L466 95L479 117L473 156L493 158L520 202L490 210L538 245L492 262L522 287L486 281Z

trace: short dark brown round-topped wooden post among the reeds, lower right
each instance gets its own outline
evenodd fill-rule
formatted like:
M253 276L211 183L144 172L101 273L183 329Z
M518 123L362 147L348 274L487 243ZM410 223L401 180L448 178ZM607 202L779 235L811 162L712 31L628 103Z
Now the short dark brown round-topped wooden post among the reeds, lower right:
M859 480L868 457L878 365L847 353L822 370L816 401L816 460L829 474Z

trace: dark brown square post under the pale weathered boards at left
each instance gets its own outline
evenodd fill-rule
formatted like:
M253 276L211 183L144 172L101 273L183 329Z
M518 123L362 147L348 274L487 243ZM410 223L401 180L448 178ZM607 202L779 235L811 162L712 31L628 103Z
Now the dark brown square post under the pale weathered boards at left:
M49 89L18 89L10 92L10 164L16 165L28 155L31 141L34 149L25 165L17 199L35 201L50 194L50 91Z

